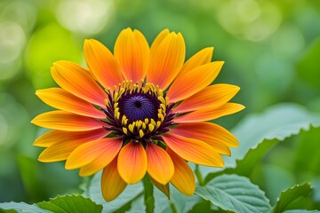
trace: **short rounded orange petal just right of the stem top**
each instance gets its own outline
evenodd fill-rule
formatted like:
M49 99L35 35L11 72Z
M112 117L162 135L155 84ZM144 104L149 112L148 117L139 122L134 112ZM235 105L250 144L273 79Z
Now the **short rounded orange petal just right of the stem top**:
M146 148L148 159L148 174L156 182L166 185L173 176L174 168L172 160L163 148L152 143L147 144Z

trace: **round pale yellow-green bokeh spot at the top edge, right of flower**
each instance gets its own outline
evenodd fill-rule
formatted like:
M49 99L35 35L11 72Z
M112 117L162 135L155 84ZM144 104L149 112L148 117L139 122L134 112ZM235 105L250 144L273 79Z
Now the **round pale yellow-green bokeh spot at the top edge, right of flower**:
M232 0L220 3L218 20L221 27L230 34L252 42L271 36L282 21L279 9L271 2Z

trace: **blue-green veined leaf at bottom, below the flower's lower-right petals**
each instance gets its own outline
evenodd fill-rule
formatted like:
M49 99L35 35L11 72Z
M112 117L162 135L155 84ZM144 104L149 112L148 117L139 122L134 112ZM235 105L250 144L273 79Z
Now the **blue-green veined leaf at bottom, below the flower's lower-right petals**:
M271 209L265 194L247 177L215 177L207 185L197 185L196 194L224 210L249 213L269 212Z

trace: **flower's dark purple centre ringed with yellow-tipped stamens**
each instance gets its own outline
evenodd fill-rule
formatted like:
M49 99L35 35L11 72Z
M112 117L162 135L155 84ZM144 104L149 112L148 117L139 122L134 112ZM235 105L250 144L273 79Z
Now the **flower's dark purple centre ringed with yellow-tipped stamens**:
M153 83L124 81L107 93L107 110L103 110L106 119L102 121L110 125L108 130L123 136L124 140L151 141L168 130L168 123L173 124L175 114L169 99Z

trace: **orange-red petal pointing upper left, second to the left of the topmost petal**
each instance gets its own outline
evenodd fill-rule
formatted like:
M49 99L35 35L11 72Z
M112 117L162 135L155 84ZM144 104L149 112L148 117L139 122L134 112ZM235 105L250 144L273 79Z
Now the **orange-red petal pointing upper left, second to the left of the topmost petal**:
M105 99L108 99L106 92L102 91L84 67L69 61L57 61L51 72L54 81L66 91L92 104L105 107Z

